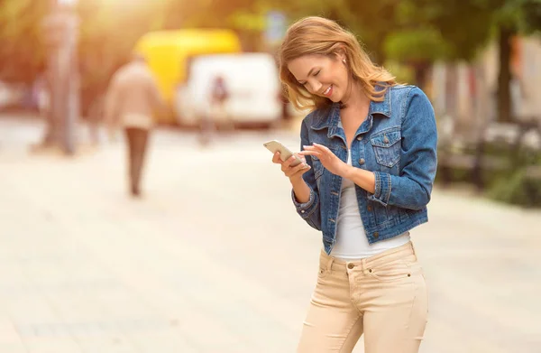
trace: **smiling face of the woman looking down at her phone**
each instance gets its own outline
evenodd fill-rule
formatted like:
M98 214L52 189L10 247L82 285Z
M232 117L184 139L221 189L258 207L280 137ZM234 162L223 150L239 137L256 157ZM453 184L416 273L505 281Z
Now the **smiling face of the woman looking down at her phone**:
M289 72L315 96L344 101L349 74L341 56L305 55L289 61Z

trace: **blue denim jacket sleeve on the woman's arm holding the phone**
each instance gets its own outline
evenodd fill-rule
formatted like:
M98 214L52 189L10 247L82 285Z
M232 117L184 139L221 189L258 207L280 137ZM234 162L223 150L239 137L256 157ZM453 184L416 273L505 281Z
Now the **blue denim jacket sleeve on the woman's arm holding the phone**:
M308 145L308 129L306 122L303 121L300 128L300 150L304 149L304 145ZM319 207L319 192L317 190L316 176L314 174L314 164L312 158L306 156L307 163L310 169L302 175L304 181L306 181L308 188L310 188L310 198L305 203L300 203L295 198L295 192L291 190L291 198L293 204L297 209L298 215L307 221L307 223L317 230L321 230L321 212Z

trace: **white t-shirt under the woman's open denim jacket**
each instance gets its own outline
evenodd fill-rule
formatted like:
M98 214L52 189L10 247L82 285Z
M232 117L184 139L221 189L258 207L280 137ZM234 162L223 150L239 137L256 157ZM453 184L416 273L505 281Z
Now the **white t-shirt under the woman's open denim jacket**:
M348 150L347 163L352 165L352 153ZM342 180L340 209L336 222L336 242L331 255L346 261L353 261L380 254L394 247L403 246L409 241L409 232L369 244L362 225L355 184L348 179Z

